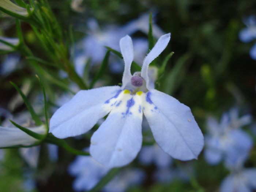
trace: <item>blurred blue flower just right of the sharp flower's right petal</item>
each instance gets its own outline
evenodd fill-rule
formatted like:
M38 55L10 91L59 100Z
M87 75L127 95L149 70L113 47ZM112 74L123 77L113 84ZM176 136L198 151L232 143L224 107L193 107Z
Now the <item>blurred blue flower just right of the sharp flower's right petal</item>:
M251 123L251 116L238 117L238 110L231 109L222 115L220 123L207 118L208 135L205 137L206 148L204 157L211 165L218 164L222 159L226 163L236 161L251 150L252 138L241 127Z

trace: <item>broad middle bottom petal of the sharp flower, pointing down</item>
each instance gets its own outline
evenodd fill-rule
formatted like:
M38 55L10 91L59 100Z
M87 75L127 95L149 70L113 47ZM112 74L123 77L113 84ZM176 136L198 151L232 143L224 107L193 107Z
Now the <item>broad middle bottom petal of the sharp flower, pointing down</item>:
M142 145L142 109L138 95L120 94L120 100L91 137L90 154L107 167L130 163Z

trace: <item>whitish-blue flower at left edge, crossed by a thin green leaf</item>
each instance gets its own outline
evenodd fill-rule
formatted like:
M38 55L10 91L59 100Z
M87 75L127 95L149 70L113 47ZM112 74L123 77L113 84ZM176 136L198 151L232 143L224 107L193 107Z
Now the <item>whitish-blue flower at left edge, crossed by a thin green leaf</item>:
M39 127L27 128L38 134L45 134L45 125ZM38 140L27 135L16 127L0 127L0 147L10 147L15 145L30 145Z

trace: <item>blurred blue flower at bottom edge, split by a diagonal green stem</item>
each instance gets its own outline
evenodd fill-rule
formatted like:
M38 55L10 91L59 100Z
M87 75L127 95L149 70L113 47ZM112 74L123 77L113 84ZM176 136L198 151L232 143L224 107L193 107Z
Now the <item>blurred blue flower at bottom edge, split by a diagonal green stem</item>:
M68 167L68 172L75 177L73 189L75 191L89 191L105 176L107 167L95 161L91 156L78 156ZM103 189L104 192L123 192L130 185L141 183L145 178L139 169L127 169L118 173Z

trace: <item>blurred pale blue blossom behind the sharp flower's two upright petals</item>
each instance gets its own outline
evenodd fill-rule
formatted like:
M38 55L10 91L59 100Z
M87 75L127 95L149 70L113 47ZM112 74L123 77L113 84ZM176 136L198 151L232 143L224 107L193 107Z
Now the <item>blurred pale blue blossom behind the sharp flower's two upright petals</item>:
M119 40L125 35L131 35L136 31L142 31L143 33L148 33L148 20L149 14L143 14L138 19L134 19L131 22L128 22L124 26L109 25L104 29L101 29L98 25L97 20L91 18L87 22L87 36L83 39L82 42L79 42L76 46L78 53L75 56L75 70L82 76L84 72L84 67L89 60L91 63L100 64L106 54L106 48L108 46L112 49L115 49L120 52ZM164 32L156 25L153 24L153 36L155 38L160 38ZM137 38L134 40L134 61L142 63L144 56L148 50L147 40L144 38ZM110 69L114 73L122 72L123 64L110 56ZM111 66L114 63L114 66ZM115 68L117 67L117 69Z

